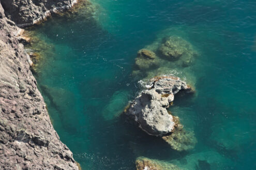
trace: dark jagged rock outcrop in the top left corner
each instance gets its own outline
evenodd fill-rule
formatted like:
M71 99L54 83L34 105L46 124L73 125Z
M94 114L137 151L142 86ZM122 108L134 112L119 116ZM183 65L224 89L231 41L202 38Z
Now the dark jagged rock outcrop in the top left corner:
M19 27L46 20L51 13L71 8L78 0L0 0L5 15Z

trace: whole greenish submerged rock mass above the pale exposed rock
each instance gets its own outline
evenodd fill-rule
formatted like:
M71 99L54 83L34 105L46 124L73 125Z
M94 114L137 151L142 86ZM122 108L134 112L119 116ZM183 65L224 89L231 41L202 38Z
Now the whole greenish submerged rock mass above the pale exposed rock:
M163 74L175 74L186 78L194 86L194 75L190 66L197 56L198 52L188 41L167 34L139 50L132 76L136 80L141 80Z

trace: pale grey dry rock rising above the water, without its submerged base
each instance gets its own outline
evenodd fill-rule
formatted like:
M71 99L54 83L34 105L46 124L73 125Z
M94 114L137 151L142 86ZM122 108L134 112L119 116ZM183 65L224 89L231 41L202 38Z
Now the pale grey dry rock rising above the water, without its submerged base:
M165 135L175 128L173 116L167 108L179 91L191 92L185 81L174 76L161 76L149 80L125 113L150 135Z

